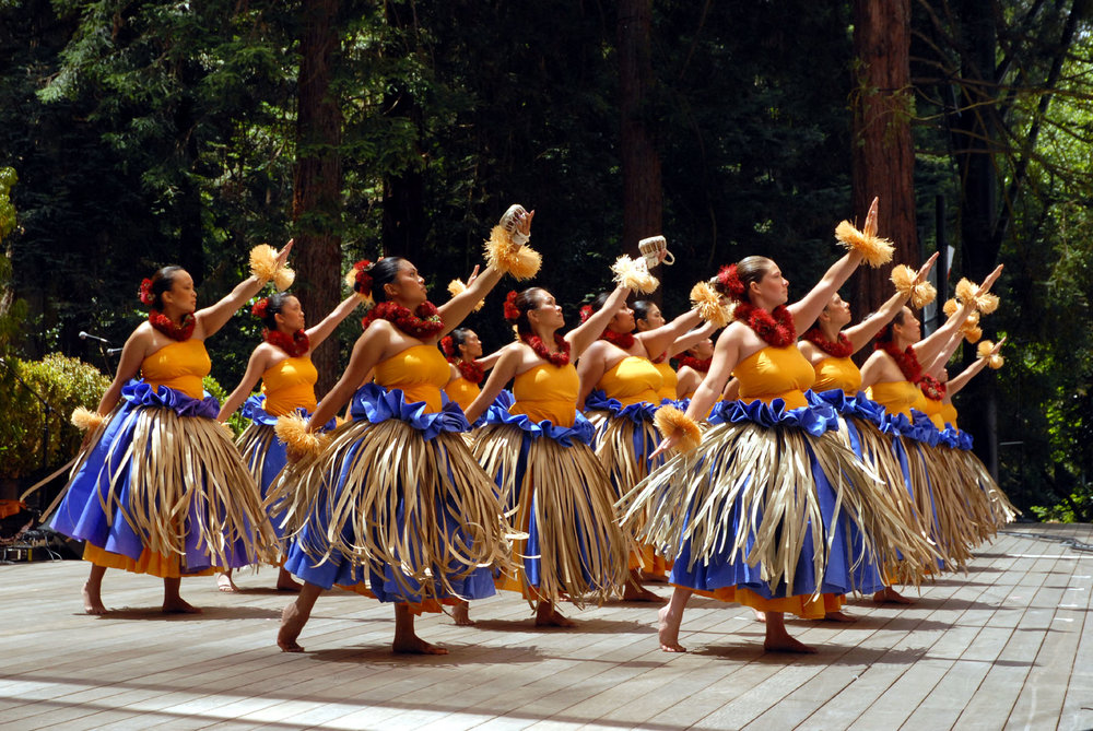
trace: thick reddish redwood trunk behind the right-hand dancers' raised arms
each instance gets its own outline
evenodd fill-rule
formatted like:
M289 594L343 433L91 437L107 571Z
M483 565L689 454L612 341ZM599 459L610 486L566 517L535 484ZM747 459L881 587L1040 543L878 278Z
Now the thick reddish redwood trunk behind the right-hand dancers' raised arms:
M854 215L860 225L880 197L878 233L895 243L893 264L919 263L915 152L910 139L910 0L855 0ZM892 295L892 264L863 268L851 295L856 317Z

